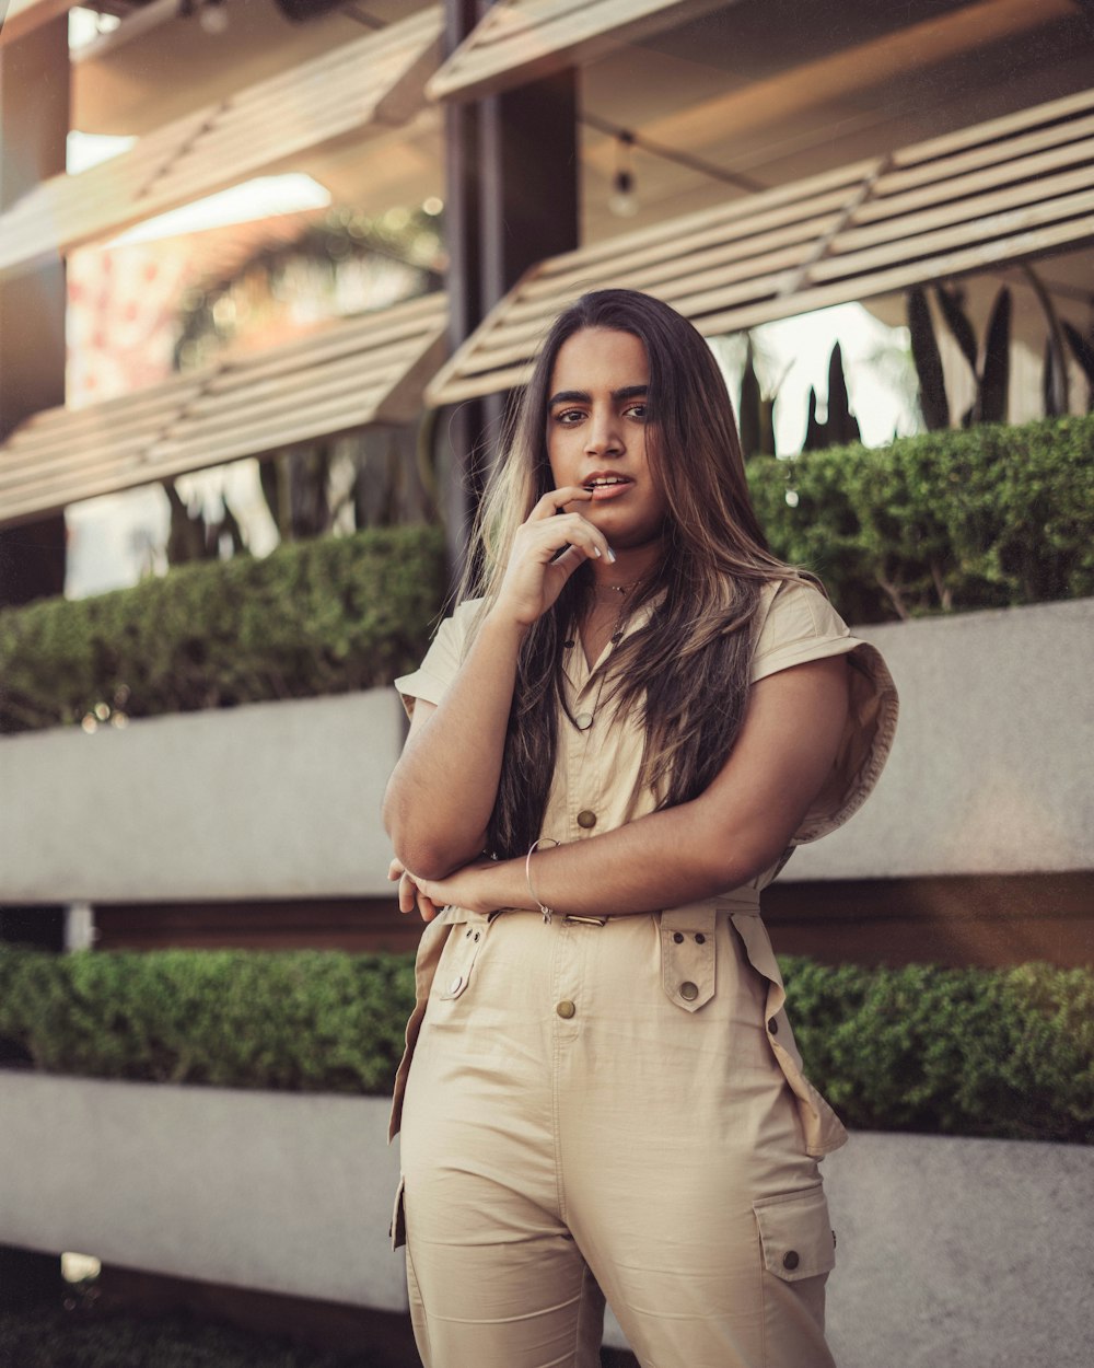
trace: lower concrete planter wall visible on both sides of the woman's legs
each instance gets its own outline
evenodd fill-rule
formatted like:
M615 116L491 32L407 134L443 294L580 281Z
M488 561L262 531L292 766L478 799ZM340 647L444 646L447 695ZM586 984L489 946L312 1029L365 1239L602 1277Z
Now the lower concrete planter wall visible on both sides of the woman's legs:
M386 1133L382 1099L0 1071L0 1244L402 1311ZM840 1368L1087 1368L1094 1148L857 1133L823 1172Z

